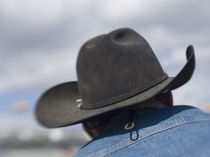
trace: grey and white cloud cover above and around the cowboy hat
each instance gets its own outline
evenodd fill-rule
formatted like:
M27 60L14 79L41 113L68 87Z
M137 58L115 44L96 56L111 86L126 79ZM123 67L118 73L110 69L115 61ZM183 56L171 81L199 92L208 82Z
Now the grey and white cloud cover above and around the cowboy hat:
M207 0L2 0L0 92L44 90L76 80L76 57L86 40L132 27L149 41L169 74L179 72L186 47L194 45L197 74L175 96L181 102L189 93L190 100L199 104L207 97L203 88L209 88L209 4ZM202 94L193 96L195 90Z

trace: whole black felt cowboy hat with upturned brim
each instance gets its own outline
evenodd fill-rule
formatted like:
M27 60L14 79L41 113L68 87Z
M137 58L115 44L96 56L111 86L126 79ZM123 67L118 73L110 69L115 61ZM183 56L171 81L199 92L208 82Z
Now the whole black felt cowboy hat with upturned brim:
M46 91L37 103L38 121L50 128L73 125L144 102L185 84L195 67L194 50L176 77L168 77L147 41L123 28L87 41L77 59L78 81Z

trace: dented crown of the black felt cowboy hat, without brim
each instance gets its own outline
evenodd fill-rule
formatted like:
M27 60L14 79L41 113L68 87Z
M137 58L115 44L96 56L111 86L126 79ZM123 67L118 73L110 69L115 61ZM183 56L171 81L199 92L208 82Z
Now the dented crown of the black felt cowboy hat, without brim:
M78 55L77 76L85 109L122 101L168 77L147 41L128 28L87 41Z

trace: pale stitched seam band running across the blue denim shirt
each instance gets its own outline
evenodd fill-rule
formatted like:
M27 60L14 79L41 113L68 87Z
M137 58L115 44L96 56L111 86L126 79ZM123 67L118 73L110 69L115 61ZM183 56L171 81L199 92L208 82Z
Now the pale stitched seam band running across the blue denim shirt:
M131 144L134 144L142 139L145 139L149 136L152 136L154 134L157 134L159 132L180 126L180 125L184 125L184 124L188 124L188 123L193 123L193 122L201 122L201 121L210 121L210 117L208 118L197 118L197 117L191 117L191 118L181 118L181 119L176 119L173 120L171 122L166 122L164 124L161 124L159 126L154 126L150 129L146 129L145 131L140 130L139 132L139 138L136 141L131 141L130 138L127 138L123 141L121 141L120 143L109 147L109 148L105 148L103 150L100 150L99 152L96 152L94 154L90 154L88 155L88 157L104 157L110 153L113 153L115 151L118 151L120 149L123 149Z

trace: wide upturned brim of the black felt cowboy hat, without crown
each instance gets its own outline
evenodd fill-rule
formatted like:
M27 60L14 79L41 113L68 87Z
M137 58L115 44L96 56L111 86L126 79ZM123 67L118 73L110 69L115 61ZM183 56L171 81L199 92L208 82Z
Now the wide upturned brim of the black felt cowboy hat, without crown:
M195 67L194 50L187 48L187 63L176 77L169 77L156 86L126 100L96 109L82 109L79 105L77 82L67 82L46 91L37 103L37 120L45 127L55 128L77 124L92 117L106 114L144 102L165 89L175 89L185 84L192 76Z

